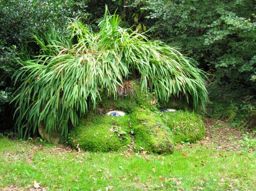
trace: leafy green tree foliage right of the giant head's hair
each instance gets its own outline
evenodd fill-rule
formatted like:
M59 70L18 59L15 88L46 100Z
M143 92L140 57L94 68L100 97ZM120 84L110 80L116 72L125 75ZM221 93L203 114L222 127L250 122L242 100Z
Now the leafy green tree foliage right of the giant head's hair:
M211 76L211 98L255 94L254 1L133 1L139 22L175 44ZM211 11L209 11L211 9Z

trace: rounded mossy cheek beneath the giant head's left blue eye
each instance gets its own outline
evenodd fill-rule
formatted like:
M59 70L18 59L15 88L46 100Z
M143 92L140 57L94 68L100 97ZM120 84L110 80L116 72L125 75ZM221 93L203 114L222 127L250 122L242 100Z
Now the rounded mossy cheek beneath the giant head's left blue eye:
M93 152L122 150L130 143L129 116L112 117L89 113L71 131L69 142L73 147Z

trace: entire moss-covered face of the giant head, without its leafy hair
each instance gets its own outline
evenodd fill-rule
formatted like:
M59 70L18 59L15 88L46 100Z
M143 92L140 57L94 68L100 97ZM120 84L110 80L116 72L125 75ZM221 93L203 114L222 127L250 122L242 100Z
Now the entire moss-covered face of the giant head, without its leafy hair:
M127 83L127 82L126 82ZM127 87L127 86L126 86ZM195 142L204 136L201 118L188 111L161 112L150 93L129 81L129 92L116 100L103 97L70 132L69 143L93 152L127 151L172 153L175 142ZM133 89L133 91L131 91ZM124 116L106 115L121 110Z

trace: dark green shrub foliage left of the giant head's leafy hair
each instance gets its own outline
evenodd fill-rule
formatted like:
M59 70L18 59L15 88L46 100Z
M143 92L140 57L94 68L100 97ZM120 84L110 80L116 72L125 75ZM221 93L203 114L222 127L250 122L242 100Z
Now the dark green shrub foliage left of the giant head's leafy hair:
M61 31L67 17L86 16L83 10L84 5L73 0L0 1L0 129L13 126L9 103L15 87L11 77L20 68L15 58L38 53L38 46L30 41L33 33L49 28Z

